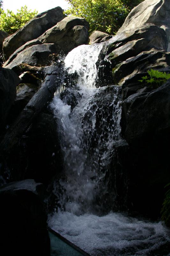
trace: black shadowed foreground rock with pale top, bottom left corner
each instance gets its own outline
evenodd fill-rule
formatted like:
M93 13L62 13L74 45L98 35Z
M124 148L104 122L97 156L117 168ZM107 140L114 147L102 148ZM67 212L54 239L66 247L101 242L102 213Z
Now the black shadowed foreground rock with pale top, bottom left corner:
M43 185L22 180L0 187L2 255L50 255Z

